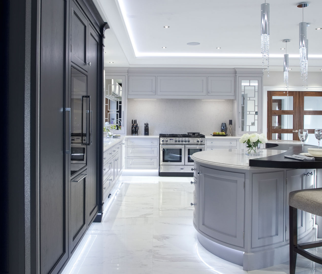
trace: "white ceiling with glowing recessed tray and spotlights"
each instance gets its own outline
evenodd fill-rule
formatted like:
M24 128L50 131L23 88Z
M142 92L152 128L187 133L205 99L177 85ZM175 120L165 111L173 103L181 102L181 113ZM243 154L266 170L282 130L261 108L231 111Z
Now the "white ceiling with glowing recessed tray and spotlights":
M260 5L256 0L94 0L105 31L105 67L260 68ZM322 69L322 1L268 0L270 71L299 70L299 27L310 24L308 70ZM164 28L168 25L170 28ZM189 42L200 45L189 46ZM162 49L166 47L166 49ZM221 47L221 49L216 49ZM114 62L114 63L109 63Z

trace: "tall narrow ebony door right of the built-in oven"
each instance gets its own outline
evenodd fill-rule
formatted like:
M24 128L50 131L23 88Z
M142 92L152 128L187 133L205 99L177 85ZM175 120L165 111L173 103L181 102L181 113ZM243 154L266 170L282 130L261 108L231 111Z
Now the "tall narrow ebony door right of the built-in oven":
M94 29L89 27L88 40L88 95L90 95L91 115L91 145L88 146L88 184L87 184L87 217L88 223L98 212L98 182L97 182L97 89L99 71L99 36Z

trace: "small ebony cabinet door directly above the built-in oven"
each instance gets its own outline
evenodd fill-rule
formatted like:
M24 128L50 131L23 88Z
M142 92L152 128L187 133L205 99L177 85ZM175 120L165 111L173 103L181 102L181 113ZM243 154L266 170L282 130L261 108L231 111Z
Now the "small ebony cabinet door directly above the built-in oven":
M71 8L71 61L87 71L88 20L74 1Z

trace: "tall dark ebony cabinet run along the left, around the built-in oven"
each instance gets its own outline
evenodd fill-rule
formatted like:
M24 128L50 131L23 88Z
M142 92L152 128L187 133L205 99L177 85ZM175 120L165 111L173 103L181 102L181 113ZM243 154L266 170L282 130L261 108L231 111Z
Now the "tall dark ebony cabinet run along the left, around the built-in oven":
M10 5L3 5L7 165L0 195L4 211L0 272L56 274L62 272L102 203L98 131L103 125L106 23L91 0L4 2ZM73 21L74 11L80 20ZM87 163L74 173L72 68L85 75L90 98Z

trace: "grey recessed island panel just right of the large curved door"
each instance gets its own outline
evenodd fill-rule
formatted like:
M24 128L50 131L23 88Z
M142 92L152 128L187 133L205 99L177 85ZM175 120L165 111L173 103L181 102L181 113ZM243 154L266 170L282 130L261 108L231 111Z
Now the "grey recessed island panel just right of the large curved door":
M251 201L251 247L282 242L284 171L252 174Z

